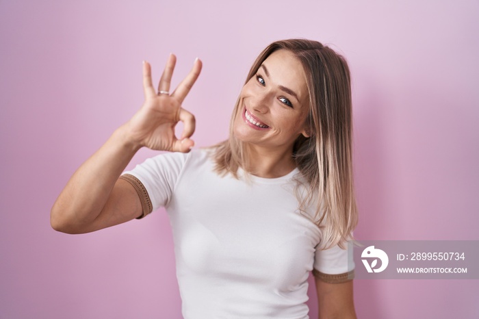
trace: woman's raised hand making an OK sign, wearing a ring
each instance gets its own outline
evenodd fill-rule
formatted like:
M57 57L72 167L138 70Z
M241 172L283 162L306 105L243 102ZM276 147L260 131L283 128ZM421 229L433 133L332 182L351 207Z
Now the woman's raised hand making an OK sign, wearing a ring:
M146 146L159 151L187 152L194 145L190 137L194 133L195 118L181 107L181 103L200 75L202 64L196 59L190 73L170 94L170 82L176 61L177 58L170 54L157 90L153 88L151 80L151 65L148 62L143 63L145 101L127 123L129 139L135 147ZM179 121L183 122L183 133L177 138L174 135L174 127Z

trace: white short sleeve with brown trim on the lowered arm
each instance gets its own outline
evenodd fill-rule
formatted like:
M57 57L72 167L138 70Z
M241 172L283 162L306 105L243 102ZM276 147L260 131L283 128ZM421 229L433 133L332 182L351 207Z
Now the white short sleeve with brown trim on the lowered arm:
M348 245L345 244L345 246ZM352 251L343 249L339 245L326 250L316 248L313 275L326 283L350 281L354 277Z

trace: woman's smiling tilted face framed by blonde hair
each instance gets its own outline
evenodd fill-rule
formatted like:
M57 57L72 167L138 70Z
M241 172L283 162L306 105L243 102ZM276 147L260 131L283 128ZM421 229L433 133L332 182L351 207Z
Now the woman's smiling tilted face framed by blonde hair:
M274 51L242 88L233 133L255 146L293 149L307 134L309 97L300 61L284 49Z

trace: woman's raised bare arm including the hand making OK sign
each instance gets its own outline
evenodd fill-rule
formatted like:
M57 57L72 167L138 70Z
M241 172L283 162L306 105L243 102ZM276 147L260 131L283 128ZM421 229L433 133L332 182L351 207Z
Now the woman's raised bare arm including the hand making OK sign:
M170 90L176 58L170 55L158 91ZM86 160L70 178L51 209L51 226L65 233L88 233L118 225L142 215L142 205L133 186L118 179L142 147L160 151L190 151L194 142L194 116L181 107L201 70L195 60L192 71L172 94L157 94L151 81L151 66L143 65L145 101L125 125L118 128L99 151ZM183 122L180 139L174 126Z

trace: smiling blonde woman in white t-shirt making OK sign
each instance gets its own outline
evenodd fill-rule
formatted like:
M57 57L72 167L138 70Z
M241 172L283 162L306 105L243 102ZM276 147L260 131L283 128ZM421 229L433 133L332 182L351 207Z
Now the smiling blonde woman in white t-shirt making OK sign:
M343 249L357 223L344 58L310 40L270 44L239 94L229 140L194 151L194 116L181 102L201 62L170 94L175 62L157 91L144 63L144 105L68 181L52 227L86 233L164 206L185 318L308 318L311 270L320 318L356 318ZM179 153L122 174L145 146Z

